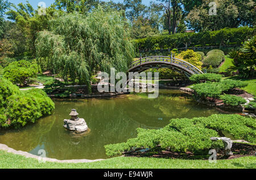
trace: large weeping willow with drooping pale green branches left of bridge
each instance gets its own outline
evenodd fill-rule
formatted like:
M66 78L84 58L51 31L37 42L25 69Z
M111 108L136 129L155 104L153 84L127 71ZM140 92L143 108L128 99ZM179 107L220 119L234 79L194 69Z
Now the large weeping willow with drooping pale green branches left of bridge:
M97 70L126 72L134 57L129 27L121 12L94 9L88 15L67 14L49 22L49 31L36 39L40 63L65 81L84 82Z

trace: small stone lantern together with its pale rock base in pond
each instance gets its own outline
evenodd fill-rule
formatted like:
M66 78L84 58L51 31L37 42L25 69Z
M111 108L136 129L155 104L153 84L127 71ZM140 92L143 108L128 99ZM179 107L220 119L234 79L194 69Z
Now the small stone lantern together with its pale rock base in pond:
M69 114L71 116L71 119L64 119L64 127L75 131L77 133L85 132L88 130L88 126L84 119L78 118L77 115L79 115L76 110L72 110Z

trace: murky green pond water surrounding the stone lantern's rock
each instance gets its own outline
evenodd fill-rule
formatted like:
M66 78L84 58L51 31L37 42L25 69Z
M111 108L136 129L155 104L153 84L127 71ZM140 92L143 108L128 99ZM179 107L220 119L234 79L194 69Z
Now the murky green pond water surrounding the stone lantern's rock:
M54 100L52 115L22 129L0 131L0 143L16 150L38 154L46 151L59 160L108 158L104 145L121 143L137 136L137 128L162 128L173 118L193 118L219 114L178 90L160 90L159 97L129 94L107 99ZM84 118L90 133L74 136L63 127L75 108Z

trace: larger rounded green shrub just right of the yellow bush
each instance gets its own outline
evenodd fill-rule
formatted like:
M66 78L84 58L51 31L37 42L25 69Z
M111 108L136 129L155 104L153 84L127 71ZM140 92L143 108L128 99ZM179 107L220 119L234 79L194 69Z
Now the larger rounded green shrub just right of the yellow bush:
M207 57L203 60L203 65L206 67L217 68L222 61L225 60L224 52L218 49L214 49L207 53Z

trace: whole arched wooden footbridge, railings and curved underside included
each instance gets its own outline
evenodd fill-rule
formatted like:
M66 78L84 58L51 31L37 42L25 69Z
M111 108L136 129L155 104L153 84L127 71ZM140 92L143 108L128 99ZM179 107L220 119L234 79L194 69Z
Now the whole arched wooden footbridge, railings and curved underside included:
M176 72L184 73L187 77L193 74L203 74L196 66L172 56L141 57L131 63L128 72L141 73L150 68L169 68Z

